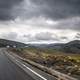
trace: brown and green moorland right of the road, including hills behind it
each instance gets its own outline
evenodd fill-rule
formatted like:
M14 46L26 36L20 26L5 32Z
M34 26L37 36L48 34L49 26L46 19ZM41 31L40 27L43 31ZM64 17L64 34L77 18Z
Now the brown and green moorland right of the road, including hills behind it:
M47 46L42 48L42 45L30 45L12 51L23 58L80 79L80 41Z

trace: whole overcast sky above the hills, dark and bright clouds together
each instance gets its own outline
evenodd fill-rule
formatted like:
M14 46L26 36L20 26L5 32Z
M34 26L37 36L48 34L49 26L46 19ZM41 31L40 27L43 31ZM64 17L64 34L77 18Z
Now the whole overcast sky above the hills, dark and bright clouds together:
M23 43L80 40L80 0L0 0L0 38Z

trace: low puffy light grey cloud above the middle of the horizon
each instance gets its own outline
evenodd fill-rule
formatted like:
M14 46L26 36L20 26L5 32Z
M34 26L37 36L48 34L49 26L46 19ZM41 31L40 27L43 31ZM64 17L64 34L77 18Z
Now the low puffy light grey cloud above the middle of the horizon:
M59 40L56 34L52 34L50 32L40 32L40 33L36 33L34 36L32 36L31 34L23 35L23 38L28 40L29 42Z

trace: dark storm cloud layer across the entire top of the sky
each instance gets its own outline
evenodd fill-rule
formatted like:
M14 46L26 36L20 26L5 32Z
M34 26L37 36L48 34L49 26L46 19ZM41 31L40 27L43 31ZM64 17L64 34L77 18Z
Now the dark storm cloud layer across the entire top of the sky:
M19 3L22 5L19 6ZM15 5L18 7L11 10ZM80 0L0 0L0 20L43 16L53 20L80 16Z

